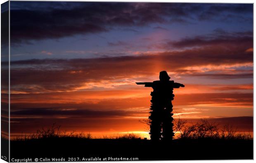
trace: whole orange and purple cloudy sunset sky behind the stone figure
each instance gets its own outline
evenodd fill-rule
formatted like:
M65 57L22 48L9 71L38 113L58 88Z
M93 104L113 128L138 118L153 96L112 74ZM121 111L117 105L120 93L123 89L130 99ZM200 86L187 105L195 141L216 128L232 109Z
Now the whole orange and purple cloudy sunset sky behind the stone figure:
M166 70L174 117L253 116L253 5L10 2L11 135L143 133ZM4 66L5 58L2 57ZM2 92L3 94L3 92Z

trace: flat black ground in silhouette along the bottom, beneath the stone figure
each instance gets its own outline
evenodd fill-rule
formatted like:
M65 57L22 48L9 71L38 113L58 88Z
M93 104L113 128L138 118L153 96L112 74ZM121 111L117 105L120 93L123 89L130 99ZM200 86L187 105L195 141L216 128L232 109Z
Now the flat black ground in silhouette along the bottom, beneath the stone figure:
M149 160L253 159L253 140L45 138L11 141L11 158L138 158ZM66 160L67 161L67 160Z

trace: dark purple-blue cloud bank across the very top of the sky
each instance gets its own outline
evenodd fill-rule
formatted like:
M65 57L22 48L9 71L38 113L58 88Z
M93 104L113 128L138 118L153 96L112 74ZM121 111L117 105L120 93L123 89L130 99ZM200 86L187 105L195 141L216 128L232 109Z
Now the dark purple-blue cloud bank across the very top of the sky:
M11 2L11 41L58 39L112 27L198 21L252 21L252 4Z

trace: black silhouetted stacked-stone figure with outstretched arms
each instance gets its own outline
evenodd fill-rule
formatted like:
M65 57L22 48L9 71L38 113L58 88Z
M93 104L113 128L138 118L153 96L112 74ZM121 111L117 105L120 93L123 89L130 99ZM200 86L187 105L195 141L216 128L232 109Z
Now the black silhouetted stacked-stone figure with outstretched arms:
M150 138L151 140L172 140L173 133L173 88L185 87L180 83L170 80L166 71L161 71L160 80L145 83L136 83L152 87L151 107L150 107Z

